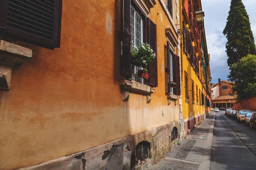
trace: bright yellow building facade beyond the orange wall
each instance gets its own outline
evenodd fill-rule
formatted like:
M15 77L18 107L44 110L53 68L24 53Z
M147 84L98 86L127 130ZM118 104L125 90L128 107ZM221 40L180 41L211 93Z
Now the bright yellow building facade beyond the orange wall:
M200 9L201 0L180 0L182 112L186 134L210 112L210 68L204 22L199 24L195 19L195 11Z

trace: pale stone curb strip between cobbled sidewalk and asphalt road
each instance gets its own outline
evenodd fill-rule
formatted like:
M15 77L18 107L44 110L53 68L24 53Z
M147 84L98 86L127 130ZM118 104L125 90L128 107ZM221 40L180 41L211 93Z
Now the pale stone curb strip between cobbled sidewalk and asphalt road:
M204 145L204 153L203 153L201 162L199 164L198 170L209 170L210 169L214 122L215 122L215 112L213 114L213 119L210 122L210 123L212 123L212 125L210 126L210 129L209 129L209 134L207 137L206 144Z

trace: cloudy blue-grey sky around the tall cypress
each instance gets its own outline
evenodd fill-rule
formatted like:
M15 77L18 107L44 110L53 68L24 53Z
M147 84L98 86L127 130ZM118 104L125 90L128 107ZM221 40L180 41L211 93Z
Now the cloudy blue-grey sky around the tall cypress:
M201 0L205 14L204 26L206 32L208 54L210 54L210 69L212 82L217 83L218 78L227 80L229 67L227 66L226 42L227 39L222 34L230 10L231 0ZM256 0L242 0L256 40Z

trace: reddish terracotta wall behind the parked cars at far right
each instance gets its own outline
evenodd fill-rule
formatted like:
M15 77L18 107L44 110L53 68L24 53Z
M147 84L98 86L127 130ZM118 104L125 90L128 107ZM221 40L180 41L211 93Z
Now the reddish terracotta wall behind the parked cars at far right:
M250 109L256 111L256 96L233 103L233 110Z

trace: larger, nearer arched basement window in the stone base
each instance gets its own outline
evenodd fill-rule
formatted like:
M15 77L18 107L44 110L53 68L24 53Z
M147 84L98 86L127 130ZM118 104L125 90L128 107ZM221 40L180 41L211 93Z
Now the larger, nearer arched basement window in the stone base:
M148 158L150 143L147 141L140 142L131 153L131 168L138 164L139 160L143 161Z

